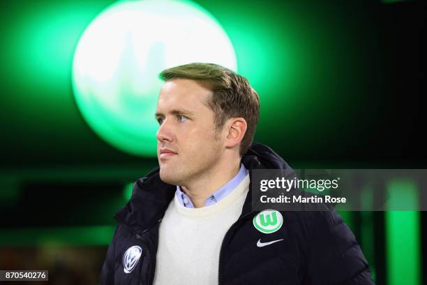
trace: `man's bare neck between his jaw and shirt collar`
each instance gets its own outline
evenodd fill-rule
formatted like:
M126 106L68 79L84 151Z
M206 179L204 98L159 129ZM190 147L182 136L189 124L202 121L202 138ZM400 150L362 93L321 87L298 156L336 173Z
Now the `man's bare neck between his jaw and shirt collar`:
M190 198L194 207L204 207L204 202L213 192L223 187L239 173L240 159L235 159L223 163L216 163L216 167L211 168L204 175L197 177L197 180L182 185L181 189Z

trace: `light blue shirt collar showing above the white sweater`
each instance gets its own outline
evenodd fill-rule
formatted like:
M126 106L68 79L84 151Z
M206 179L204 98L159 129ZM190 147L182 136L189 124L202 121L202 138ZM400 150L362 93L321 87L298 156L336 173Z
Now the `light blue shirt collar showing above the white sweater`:
M213 192L211 196L206 198L206 200L204 201L204 207L213 205L228 194L230 194L237 187L237 185L239 185L240 182L245 179L246 175L248 175L248 170L245 168L243 163L240 163L240 170L237 175L234 176L232 180L227 182L223 187ZM188 198L186 193L183 193L183 191L181 191L181 187L177 186L177 191L175 193L181 205L190 208L194 207L193 203L191 203L191 200L190 198Z

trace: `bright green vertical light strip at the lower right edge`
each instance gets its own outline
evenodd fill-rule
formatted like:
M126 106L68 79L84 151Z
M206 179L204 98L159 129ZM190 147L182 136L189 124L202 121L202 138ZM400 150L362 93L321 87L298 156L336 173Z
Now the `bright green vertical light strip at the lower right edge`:
M418 192L414 182L392 180L387 185L391 204L405 203L416 209ZM389 285L418 285L420 283L420 230L418 211L385 212L387 233L387 279Z

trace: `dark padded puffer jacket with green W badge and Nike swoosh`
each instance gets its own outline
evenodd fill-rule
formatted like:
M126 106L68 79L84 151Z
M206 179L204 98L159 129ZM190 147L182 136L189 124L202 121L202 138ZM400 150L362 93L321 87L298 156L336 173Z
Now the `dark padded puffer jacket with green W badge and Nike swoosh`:
M242 162L248 170L289 168L278 154L257 143ZM118 226L101 284L153 283L158 229L174 192L174 186L160 180L158 168L135 182L132 197L115 216ZM251 200L249 190L241 216L223 239L218 284L373 284L359 244L336 212L281 212L283 225L267 234L254 227L258 212L252 211ZM281 241L258 247L259 240ZM134 263L124 256L133 246L141 252ZM129 273L125 262L133 265Z

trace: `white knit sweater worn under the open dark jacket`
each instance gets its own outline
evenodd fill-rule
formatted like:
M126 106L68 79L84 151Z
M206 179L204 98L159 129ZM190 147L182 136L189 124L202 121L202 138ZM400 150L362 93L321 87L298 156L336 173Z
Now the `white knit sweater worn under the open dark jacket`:
M160 223L155 285L218 284L221 242L241 214L249 175L218 203L201 208L179 204L175 195Z

